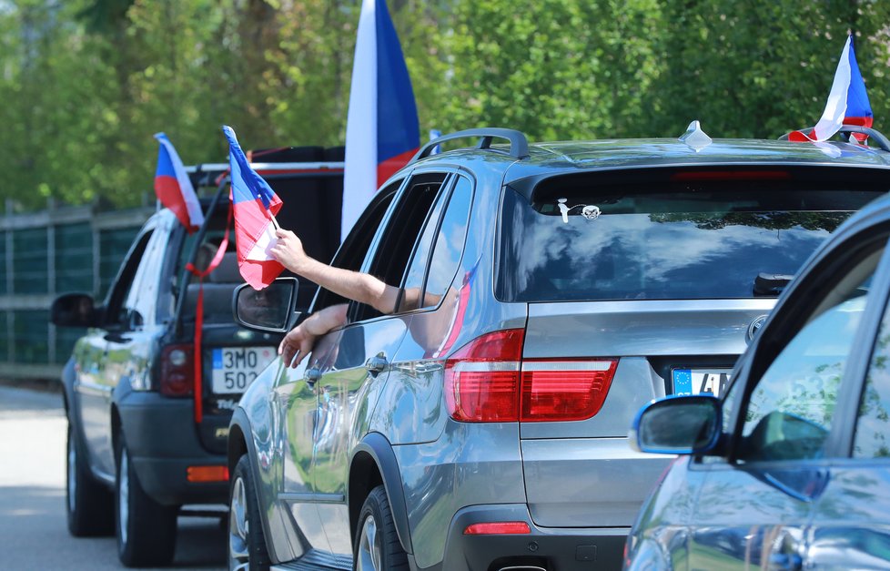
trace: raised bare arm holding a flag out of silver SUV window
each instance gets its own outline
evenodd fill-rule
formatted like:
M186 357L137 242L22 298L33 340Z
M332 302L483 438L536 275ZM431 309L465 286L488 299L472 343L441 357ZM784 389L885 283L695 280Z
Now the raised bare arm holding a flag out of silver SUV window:
M381 313L395 310L399 289L358 271L334 268L310 258L296 234L286 229L276 230L278 242L271 253L288 270L314 281L322 288L350 300L359 301Z

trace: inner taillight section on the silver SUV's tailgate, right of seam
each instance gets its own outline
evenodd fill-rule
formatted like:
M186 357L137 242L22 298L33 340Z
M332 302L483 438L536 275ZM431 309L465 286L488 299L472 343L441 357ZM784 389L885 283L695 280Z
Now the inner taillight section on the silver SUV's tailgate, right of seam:
M600 412L617 359L522 362L523 422L582 421Z

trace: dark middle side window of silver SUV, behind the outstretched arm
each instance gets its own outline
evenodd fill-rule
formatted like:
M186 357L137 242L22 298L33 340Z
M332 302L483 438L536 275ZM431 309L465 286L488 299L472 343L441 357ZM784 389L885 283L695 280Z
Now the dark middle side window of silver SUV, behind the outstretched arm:
M430 214L447 175L430 173L415 176L399 198L376 250L371 254L369 272L388 285L399 287L408 268L411 251L420 240L420 232ZM434 225L434 223L433 223ZM392 308L396 311L397 308ZM379 317L380 312L369 305L356 303L350 312L351 321Z

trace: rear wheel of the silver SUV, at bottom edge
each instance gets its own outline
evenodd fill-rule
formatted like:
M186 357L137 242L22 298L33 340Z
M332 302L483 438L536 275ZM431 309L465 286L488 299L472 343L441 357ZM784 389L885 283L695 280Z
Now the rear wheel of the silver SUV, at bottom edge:
M359 512L352 568L356 571L408 569L408 556L399 541L386 488L377 486Z

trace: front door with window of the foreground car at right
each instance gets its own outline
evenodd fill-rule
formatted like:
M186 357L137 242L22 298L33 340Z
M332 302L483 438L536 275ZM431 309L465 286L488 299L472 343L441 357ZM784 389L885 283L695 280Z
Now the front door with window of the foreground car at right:
M804 565L814 504L834 479L844 407L872 295L884 280L886 236L846 240L804 276L743 361L724 410L728 459L704 473L689 535L690 568L796 569ZM873 333L869 333L873 335Z

